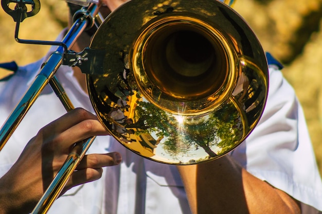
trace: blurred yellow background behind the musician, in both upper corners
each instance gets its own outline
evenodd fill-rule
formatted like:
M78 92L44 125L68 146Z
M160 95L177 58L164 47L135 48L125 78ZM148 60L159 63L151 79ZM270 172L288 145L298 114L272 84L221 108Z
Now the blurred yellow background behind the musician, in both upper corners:
M322 2L237 0L234 9L253 28L264 50L284 64L284 76L295 88L305 111L322 172ZM62 0L41 0L40 12L21 24L19 37L55 40L67 25L67 11ZM20 65L28 64L40 59L49 49L48 46L16 43L15 23L2 9L0 26L0 62L14 60Z

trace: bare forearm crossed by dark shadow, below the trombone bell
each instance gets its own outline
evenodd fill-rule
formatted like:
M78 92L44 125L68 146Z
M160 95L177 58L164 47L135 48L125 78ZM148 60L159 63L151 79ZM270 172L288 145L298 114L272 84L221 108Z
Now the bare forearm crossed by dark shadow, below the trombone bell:
M229 156L178 166L193 214L299 213L290 196L255 178Z

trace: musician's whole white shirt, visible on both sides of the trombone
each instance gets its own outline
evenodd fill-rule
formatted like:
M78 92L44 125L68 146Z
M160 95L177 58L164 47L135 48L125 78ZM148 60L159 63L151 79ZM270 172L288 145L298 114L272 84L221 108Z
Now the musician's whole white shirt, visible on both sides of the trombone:
M42 62L20 67L9 81L0 82L0 124L20 100ZM75 107L94 112L70 67L61 66L56 76ZM0 152L0 176L10 169L41 127L64 113L55 93L46 87ZM122 163L104 168L98 181L67 191L53 203L49 213L190 213L175 166L139 157L109 136L97 137L88 152L110 151L120 152ZM322 210L322 183L303 112L294 90L276 66L270 67L269 97L258 126L230 155L254 176Z

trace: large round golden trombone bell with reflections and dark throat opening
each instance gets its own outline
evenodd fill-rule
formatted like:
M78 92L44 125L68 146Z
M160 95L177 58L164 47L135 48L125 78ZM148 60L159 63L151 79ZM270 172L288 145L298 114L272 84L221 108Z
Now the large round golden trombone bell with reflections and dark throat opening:
M221 157L253 130L268 69L255 34L228 6L207 0L132 0L110 14L87 74L99 120L130 150L168 164Z

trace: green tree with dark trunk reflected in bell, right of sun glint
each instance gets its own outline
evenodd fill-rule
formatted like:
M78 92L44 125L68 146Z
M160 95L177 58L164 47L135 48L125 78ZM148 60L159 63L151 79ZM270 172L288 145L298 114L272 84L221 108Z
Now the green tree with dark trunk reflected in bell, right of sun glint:
M209 157L216 157L239 142L239 121L239 114L232 103L225 103L207 116L186 119L182 125L185 144L196 149L201 147Z

